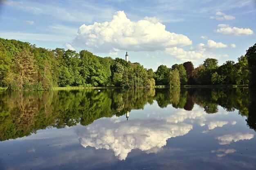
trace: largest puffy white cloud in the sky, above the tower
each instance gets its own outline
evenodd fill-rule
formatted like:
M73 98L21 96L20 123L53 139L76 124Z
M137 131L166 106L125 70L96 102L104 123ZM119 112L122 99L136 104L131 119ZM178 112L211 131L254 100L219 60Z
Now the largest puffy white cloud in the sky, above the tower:
M156 18L130 21L124 11L118 11L110 22L81 25L74 44L95 51L132 49L132 51L164 50L171 46L186 46L192 42L182 34L166 31Z

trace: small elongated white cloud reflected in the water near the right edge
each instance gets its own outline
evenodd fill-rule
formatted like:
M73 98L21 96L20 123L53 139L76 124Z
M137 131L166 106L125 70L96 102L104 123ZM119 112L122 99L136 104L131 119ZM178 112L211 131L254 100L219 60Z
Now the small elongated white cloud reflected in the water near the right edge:
M223 135L223 136L219 136L217 137L217 139L219 140L219 144L220 145L227 145L227 144L231 144L231 142L237 142L240 140L249 140L252 139L254 137L254 134L250 134L250 133L232 133L229 135Z

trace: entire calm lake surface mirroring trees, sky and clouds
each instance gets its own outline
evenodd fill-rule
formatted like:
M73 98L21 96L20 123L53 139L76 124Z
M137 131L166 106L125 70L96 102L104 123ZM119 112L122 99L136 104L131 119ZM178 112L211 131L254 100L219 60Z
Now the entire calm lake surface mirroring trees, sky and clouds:
M246 88L0 92L0 170L255 170Z

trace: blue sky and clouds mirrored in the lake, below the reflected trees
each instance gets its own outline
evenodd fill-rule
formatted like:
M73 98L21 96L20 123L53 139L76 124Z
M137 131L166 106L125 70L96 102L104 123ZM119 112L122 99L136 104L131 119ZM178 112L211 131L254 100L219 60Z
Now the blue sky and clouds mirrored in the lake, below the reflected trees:
M0 169L249 169L256 134L237 111L161 109L156 102L88 126L0 143ZM122 160L122 161L120 161ZM124 161L125 160L125 161ZM239 161L238 161L239 160Z

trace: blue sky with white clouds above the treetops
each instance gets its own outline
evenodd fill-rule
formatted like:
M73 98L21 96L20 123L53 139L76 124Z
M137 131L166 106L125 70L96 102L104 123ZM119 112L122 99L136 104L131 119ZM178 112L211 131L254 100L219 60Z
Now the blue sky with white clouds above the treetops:
M237 62L256 43L256 0L0 0L0 38L85 49L155 71Z

